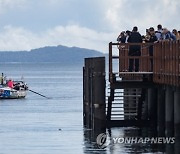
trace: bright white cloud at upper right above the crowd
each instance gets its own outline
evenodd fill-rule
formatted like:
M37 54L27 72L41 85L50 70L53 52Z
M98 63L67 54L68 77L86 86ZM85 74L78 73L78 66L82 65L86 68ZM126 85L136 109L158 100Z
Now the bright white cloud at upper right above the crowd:
M146 28L159 23L170 29L179 28L179 0L105 0L104 6L105 18L114 31L131 30L137 25L144 33Z

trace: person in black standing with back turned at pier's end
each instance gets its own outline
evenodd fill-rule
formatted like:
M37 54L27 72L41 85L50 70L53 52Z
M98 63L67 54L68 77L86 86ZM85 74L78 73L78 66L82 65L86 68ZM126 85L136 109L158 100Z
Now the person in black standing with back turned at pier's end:
M142 43L142 36L138 32L138 27L134 27L131 35L128 38L128 43ZM130 45L129 46L129 56L141 56L141 46L140 45ZM135 68L134 68L135 65ZM130 58L129 59L129 72L139 71L139 59Z

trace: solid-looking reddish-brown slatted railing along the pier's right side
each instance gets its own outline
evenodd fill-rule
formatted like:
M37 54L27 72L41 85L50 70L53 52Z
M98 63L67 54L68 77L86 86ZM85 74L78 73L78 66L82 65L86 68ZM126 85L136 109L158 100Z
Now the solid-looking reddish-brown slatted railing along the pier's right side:
M154 50L153 81L180 86L180 40L156 43Z

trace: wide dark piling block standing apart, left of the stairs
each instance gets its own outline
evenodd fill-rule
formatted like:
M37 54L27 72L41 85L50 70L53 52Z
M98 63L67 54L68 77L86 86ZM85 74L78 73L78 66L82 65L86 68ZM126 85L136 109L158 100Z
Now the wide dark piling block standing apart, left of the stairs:
M106 128L105 57L86 58L84 68L84 125L103 131Z

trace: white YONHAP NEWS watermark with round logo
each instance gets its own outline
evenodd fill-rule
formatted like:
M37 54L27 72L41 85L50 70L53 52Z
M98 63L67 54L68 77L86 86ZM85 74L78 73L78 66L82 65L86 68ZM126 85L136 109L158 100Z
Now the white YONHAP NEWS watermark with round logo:
M100 148L110 144L174 144L175 137L110 137L108 133L101 133L96 143Z

